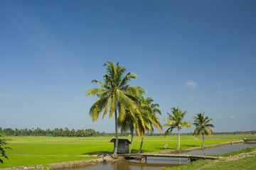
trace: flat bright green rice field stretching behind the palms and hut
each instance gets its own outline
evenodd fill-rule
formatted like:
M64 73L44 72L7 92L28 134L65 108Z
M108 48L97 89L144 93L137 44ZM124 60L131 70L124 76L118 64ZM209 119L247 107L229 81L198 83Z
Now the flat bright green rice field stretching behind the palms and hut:
M247 136L218 135L206 137L206 145L241 140ZM82 159L95 159L90 154L99 152L112 152L112 137L9 137L11 141L7 150L9 160L4 159L0 169L16 166L33 166L38 164L53 164L59 162L78 161ZM129 138L129 137L122 137ZM145 137L142 152L159 152L166 149L176 149L176 136ZM249 137L247 137L249 138ZM132 152L137 152L140 137L134 137ZM198 147L202 145L201 139L195 140L191 136L181 136L181 149Z

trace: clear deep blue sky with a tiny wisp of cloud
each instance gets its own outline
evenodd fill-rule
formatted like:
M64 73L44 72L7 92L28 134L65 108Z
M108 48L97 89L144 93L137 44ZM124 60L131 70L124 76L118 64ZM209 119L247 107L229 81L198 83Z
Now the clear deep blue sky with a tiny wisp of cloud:
M92 128L107 61L159 103L213 118L215 132L256 130L256 1L0 1L2 128ZM193 128L183 128L191 132Z

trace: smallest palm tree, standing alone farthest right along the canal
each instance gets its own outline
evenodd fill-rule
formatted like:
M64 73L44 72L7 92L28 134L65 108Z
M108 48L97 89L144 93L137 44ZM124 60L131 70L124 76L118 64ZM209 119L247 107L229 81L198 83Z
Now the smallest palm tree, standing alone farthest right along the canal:
M211 135L213 133L213 130L210 130L210 128L214 128L213 124L209 124L213 118L204 118L204 113L196 113L197 117L193 117L194 123L193 125L196 126L196 129L193 131L192 135L203 135L203 147L204 147L204 135Z

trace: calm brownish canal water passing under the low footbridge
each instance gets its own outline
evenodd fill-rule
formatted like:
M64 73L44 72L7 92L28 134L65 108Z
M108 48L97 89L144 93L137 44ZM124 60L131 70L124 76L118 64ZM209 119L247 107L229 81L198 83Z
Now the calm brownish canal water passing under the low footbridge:
M256 147L256 144L236 144L226 145L223 147L215 147L193 152L187 152L183 154L225 154L228 152L234 152L246 147ZM61 170L153 170L162 169L164 166L179 166L187 164L187 159L184 158L164 158L164 157L148 157L146 163L139 162L137 160L126 160L114 163L105 163L97 165L81 166L79 168L61 169Z

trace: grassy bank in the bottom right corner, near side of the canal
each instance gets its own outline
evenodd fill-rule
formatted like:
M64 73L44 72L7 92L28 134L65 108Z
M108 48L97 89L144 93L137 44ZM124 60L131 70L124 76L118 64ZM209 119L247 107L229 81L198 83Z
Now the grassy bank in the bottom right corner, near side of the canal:
M256 147L248 147L241 149L240 151L230 152L228 154L222 154L221 157L227 157L218 161L215 160L198 160L192 164L174 166L171 168L164 168L162 170L194 170L194 169L256 169L256 152L249 154L250 157L243 157L242 153L248 153L256 150ZM240 154L240 155L238 155ZM237 155L237 156L236 156ZM235 157L234 157L235 156Z

